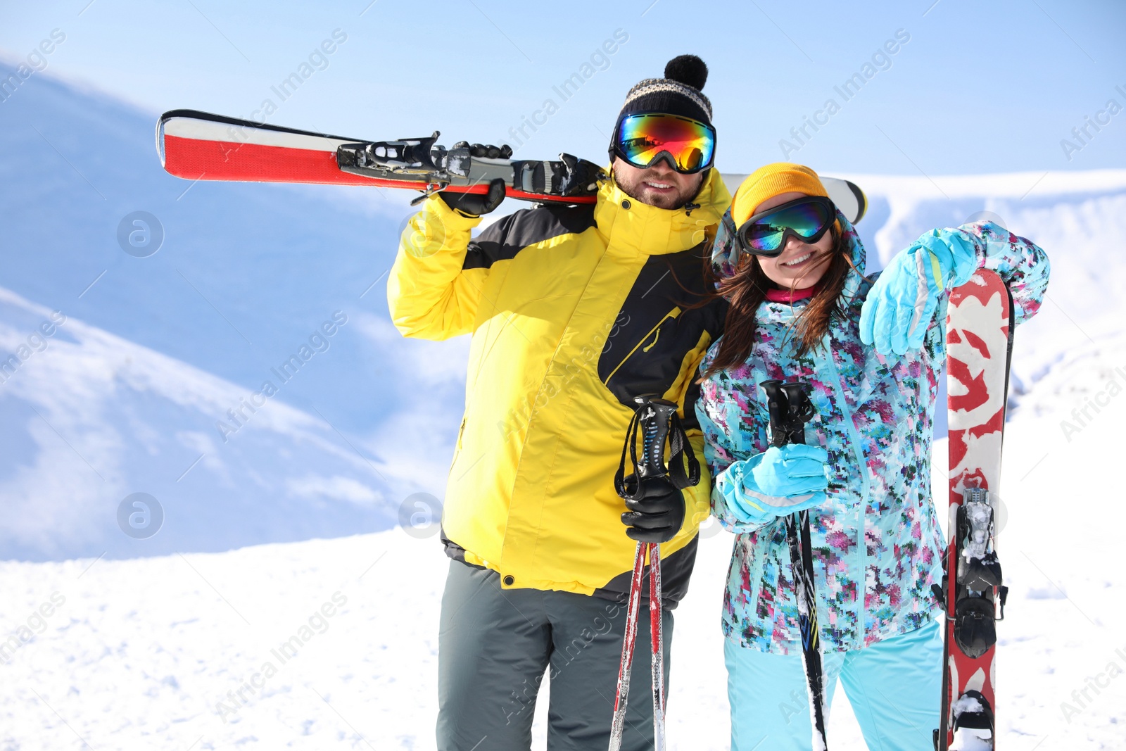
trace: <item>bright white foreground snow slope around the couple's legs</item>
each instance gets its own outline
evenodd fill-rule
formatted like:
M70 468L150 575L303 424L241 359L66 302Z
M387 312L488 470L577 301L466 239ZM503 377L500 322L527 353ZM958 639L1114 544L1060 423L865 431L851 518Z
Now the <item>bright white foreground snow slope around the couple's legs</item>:
M1093 510L1119 500L1090 468L1111 457L1126 397L1109 401L1070 444L1057 424L1084 394L1106 392L1116 367L1126 382L1126 340L1070 359L1010 423L1003 497L1011 516L1001 544L1011 593L999 679L1006 749L1121 748L1120 533L1091 524L1094 513L1061 515L1060 504ZM1069 466L1088 471L1061 471ZM670 749L727 748L718 623L731 540L705 533L691 591L676 613ZM39 632L0 664L0 749L73 749L78 736L96 749L434 749L447 565L432 534L397 529L222 554L0 563L0 622ZM44 605L51 615L35 616ZM294 647L274 653L295 636L296 656ZM1088 689L1080 707L1072 692L1088 678L1106 687ZM261 688L240 697L250 681ZM1075 712L1065 715L1062 703ZM537 706L536 749L545 705ZM841 698L830 733L834 749L865 748Z

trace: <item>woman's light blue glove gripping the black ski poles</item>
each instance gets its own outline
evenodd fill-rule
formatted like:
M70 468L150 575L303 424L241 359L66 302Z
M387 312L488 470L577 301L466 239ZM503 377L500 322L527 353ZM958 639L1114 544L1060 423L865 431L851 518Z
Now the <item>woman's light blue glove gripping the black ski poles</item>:
M740 524L766 524L825 502L829 453L820 446L771 446L735 462L715 486Z

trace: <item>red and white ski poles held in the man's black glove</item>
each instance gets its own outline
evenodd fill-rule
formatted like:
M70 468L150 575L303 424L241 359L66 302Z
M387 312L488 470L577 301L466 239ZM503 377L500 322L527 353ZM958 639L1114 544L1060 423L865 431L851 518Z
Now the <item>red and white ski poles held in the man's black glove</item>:
M626 442L622 448L622 462L614 477L618 495L627 500L642 497L642 484L646 481L668 479L677 489L699 482L699 465L688 438L677 417L677 404L655 394L644 394L634 399L637 410L626 431ZM642 433L642 456L637 456L637 431ZM664 447L670 448L669 465L664 463ZM625 475L625 459L628 453L634 474ZM685 472L681 456L687 454L688 472ZM625 731L626 707L629 698L629 674L633 669L633 651L637 637L641 590L644 580L645 558L649 557L649 615L650 644L652 653L653 681L653 740L656 751L664 751L664 633L662 629L661 601L661 546L659 543L637 543L634 555L633 576L629 581L629 600L626 609L626 632L622 645L622 662L618 665L617 695L614 699L614 722L610 725L609 751L622 748Z

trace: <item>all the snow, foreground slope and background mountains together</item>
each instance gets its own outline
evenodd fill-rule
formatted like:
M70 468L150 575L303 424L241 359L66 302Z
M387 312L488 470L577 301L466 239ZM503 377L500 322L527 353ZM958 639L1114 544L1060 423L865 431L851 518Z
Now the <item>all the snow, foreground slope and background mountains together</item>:
M448 562L432 524L399 524L440 498L467 342L387 318L406 197L189 187L157 168L152 118L46 74L0 119L0 356L27 347L0 383L0 750L432 749ZM982 214L1052 257L1016 337L998 734L1121 748L1126 171L839 177L868 193L870 268ZM114 240L138 208L166 225L145 259ZM331 346L224 442L216 421L337 310ZM135 492L162 506L155 536L118 527ZM731 545L705 528L676 611L670 749L727 748ZM843 691L829 732L865 748Z

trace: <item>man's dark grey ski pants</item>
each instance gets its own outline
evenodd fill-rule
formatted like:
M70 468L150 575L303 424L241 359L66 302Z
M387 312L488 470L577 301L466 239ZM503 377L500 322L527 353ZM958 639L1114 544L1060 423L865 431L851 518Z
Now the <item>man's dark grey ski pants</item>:
M653 748L647 598L640 611L624 751ZM613 600L502 590L495 571L450 561L438 636L438 751L528 751L545 672L548 751L605 751L625 622L625 605ZM668 687L668 610L663 631Z

